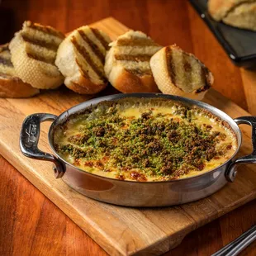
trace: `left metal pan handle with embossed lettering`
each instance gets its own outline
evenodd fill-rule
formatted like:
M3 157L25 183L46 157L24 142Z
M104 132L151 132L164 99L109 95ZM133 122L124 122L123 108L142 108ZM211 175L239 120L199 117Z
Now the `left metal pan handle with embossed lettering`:
M40 137L40 123L43 121L54 121L57 116L52 114L38 113L27 116L21 126L20 148L22 154L31 159L40 159L50 161L55 164L55 178L61 178L64 175L63 165L53 154L42 152L38 149Z

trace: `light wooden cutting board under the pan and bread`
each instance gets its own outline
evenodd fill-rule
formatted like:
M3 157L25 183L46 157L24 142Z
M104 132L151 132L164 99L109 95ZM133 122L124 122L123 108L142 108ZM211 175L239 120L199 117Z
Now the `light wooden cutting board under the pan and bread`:
M128 28L113 18L92 26L115 39ZM111 87L101 95L115 92ZM111 255L159 255L177 246L185 235L201 225L234 210L256 197L256 166L239 166L235 183L200 201L182 206L162 208L127 208L112 206L83 197L61 179L55 179L52 164L28 159L19 149L19 133L24 118L36 112L59 115L73 105L88 100L60 88L43 92L31 99L0 99L0 154L17 168L41 192ZM204 100L232 117L249 113L211 89ZM40 149L49 152L47 132L50 124L43 123ZM243 145L239 155L251 151L251 130L242 126Z

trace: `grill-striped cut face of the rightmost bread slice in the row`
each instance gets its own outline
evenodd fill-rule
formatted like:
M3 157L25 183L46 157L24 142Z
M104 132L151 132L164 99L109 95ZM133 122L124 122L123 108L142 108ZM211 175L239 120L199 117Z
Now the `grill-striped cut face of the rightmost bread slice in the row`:
M165 49L168 76L174 86L184 92L203 92L211 87L209 70L194 55L187 54L178 46Z

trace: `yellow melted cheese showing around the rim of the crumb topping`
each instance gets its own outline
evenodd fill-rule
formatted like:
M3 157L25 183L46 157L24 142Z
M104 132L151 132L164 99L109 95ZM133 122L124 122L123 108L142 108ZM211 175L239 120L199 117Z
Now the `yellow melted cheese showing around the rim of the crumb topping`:
M121 107L118 111L119 116L126 117L127 120L133 120L140 118L141 114L147 111L152 111L152 115L155 118L173 118L175 120L181 120L184 121L181 115L177 114L177 107L170 105L170 106L150 106L150 105L143 105L140 106L130 106L130 107ZM159 116L158 114L161 114ZM66 124L68 126L68 129L63 132L62 129L57 129L55 131L55 143L57 144L68 144L68 138L72 135L77 135L78 130L83 127L83 125L87 122L86 119L82 116L77 116L75 118L71 118L70 121ZM235 150L237 149L237 141L235 138L235 135L232 133L232 131L227 128L226 126L223 126L221 124L221 121L216 121L216 118L212 118L209 116L204 115L202 112L195 111L192 115L192 122L197 123L197 125L201 126L211 126L211 132L214 131L220 131L222 134L225 134L225 140L220 140L219 143L217 143L216 148L225 147L226 145L231 145L231 149L226 152L226 154L219 159L211 159L210 161L206 161L205 167L201 170L191 170L187 174L181 175L179 178L189 178L192 176L196 176L201 173L206 173L221 164L224 164L225 161L230 159L232 155L235 153ZM126 180L134 180L133 178L130 178L130 172L126 173L120 173L120 170L115 168L115 166L111 167L111 172L103 171L100 168L96 167L88 167L85 166L86 159L80 159L79 162L77 162L73 156L61 154L59 152L60 156L64 158L67 162L70 164L73 164L77 166L78 168L81 168L88 173L94 173L100 176L108 177L108 178L116 178L118 175L122 175L123 178ZM134 169L134 171L140 172L140 170ZM146 177L147 181L161 181L164 180L163 177L156 178L155 176L151 177L150 175Z

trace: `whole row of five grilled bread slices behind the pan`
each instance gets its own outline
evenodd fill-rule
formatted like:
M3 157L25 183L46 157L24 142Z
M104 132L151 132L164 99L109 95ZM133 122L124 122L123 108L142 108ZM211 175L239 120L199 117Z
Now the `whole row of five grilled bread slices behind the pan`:
M65 37L51 26L25 21L8 46L0 47L0 97L30 97L62 83L95 94L110 82L125 93L161 91L200 100L213 83L194 55L176 45L163 48L140 31L111 42L91 26Z

